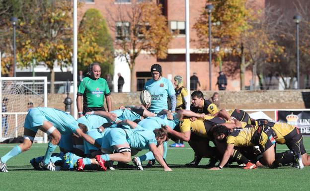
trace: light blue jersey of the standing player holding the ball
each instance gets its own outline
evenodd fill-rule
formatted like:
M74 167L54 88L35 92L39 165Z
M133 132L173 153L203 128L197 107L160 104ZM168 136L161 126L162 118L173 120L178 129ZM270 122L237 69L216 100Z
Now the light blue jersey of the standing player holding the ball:
M144 89L148 90L152 97L151 107L148 110L156 114L163 109L168 109L168 95L175 94L172 82L164 77L161 77L158 81L154 79L148 80Z

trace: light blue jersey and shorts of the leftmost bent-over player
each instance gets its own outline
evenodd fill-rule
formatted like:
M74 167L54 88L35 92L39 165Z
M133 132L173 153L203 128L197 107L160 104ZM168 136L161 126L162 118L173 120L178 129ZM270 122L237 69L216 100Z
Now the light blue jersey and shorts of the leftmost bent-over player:
M32 108L26 116L25 128L37 130L35 127L43 125L43 121L49 121L61 134L76 132L78 122L64 111L54 108Z

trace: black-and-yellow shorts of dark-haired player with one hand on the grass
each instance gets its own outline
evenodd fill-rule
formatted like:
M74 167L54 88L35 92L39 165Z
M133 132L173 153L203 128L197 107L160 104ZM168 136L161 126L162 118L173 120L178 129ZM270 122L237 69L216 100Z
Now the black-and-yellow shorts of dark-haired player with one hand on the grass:
M263 137L263 133L267 136ZM275 136L276 133L271 127L258 126L251 138L251 142L258 145L261 153L263 153L276 143L276 139L274 138Z

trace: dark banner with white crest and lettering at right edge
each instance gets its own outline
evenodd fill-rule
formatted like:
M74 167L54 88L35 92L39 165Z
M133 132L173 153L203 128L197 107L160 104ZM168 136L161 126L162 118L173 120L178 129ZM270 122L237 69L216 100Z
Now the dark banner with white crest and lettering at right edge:
M303 135L310 135L310 111L278 111L278 122L288 123Z

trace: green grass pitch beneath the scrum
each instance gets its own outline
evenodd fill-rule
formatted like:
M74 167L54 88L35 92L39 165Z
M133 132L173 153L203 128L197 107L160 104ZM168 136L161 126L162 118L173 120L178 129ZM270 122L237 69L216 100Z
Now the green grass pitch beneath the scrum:
M172 142L169 142L172 143ZM310 137L305 137L306 149L310 149ZM0 144L0 156L15 144ZM310 167L304 170L281 167L243 170L237 166L210 171L203 165L187 168L193 151L185 148L169 148L167 163L173 172L163 168L115 170L107 172L85 171L35 171L29 160L45 153L46 144L34 144L32 148L8 161L8 173L0 173L0 191L309 191ZM278 152L286 146L277 146ZM310 150L307 150L310 153Z

